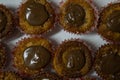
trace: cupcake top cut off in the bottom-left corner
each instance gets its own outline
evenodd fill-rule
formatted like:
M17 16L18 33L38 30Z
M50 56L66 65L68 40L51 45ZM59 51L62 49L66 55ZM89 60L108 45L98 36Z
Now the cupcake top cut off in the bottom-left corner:
M0 72L0 80L23 80L17 73L15 72Z

